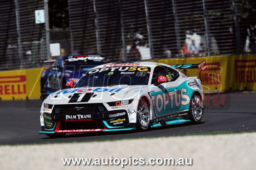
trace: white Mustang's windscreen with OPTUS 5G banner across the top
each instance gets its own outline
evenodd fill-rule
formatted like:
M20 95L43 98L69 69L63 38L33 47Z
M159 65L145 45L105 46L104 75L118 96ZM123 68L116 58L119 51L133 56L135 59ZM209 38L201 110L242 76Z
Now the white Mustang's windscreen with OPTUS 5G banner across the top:
M150 78L150 67L106 67L88 71L75 85L85 86L112 86L112 85L147 85Z

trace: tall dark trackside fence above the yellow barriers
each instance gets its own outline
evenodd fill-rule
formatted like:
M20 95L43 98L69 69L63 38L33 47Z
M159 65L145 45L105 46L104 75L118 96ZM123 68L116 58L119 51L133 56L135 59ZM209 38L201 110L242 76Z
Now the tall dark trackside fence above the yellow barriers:
M50 30L60 56L101 54L117 62L256 53L252 0L66 1L70 27ZM35 23L44 3L1 1L1 70L40 67L49 58L45 25Z

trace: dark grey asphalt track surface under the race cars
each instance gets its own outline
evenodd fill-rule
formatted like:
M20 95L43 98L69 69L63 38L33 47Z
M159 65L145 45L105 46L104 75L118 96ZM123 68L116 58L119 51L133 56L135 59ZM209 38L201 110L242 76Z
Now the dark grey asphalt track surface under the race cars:
M121 131L67 134L50 138L40 131L41 100L0 101L0 144L74 142L190 135L207 132L256 131L256 93L206 94L205 114L199 125L182 124L146 132Z

